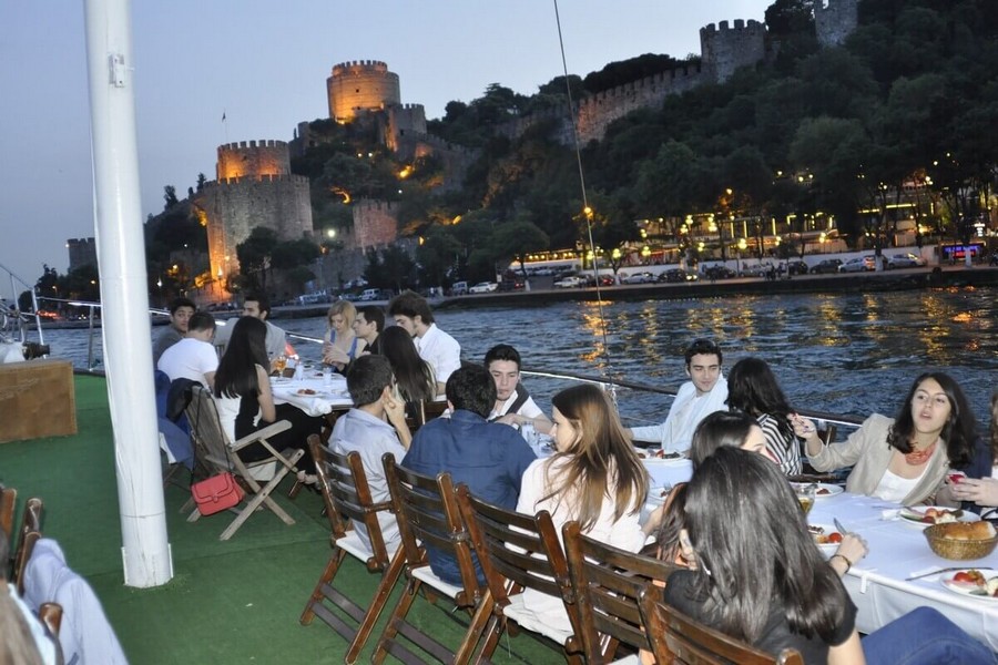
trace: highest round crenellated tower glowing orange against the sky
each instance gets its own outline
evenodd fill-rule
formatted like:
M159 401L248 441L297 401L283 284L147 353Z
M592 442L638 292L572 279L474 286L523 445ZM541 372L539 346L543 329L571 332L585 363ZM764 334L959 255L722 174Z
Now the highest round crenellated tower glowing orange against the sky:
M375 111L401 103L398 74L377 60L343 62L326 79L329 117L348 122L357 110ZM424 119L425 122L425 119Z

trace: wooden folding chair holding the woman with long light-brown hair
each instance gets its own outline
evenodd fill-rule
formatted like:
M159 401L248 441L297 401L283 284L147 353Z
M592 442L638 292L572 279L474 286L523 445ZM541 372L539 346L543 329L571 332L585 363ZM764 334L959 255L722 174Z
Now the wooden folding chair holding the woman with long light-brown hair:
M506 510L476 498L466 484L458 487L458 504L489 589L479 607L479 612L490 613L480 657L491 658L508 622L512 621L556 644L568 662L581 663L574 594L550 513L542 510L530 516ZM526 611L522 602L526 589L562 600L572 630L564 632Z

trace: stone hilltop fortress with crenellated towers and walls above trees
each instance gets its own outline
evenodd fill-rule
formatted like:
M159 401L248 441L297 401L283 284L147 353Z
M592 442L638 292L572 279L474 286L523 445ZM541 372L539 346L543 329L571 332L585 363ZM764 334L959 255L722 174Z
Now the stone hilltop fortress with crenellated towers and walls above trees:
M816 0L815 30L822 45L841 44L857 25L858 0ZM756 20L721 21L700 30L701 58L668 72L584 96L576 110L576 125L583 143L601 140L610 124L639 109L661 106L669 95L706 83L722 83L744 66L755 66L772 57L774 45L766 27ZM434 155L444 164L441 188L459 186L476 157L472 150L450 145L427 133L421 104L404 104L398 74L378 60L356 60L333 66L326 79L329 119L340 123L366 123L378 141L399 161ZM534 124L553 119L553 137L572 142L572 124L564 106L510 117L497 127L511 139ZM310 124L302 122L289 143L249 141L217 149L216 180L206 183L194 200L194 209L207 228L212 278L220 282L238 272L236 245L249 232L265 225L281 239L314 237L309 183L291 173L291 157L305 154L319 141ZM364 252L398 241L397 206L387 202L353 204L354 227L343 234L339 265L324 260L320 284L333 284L363 269ZM82 248L81 248L82 249ZM330 259L330 256L326 256Z

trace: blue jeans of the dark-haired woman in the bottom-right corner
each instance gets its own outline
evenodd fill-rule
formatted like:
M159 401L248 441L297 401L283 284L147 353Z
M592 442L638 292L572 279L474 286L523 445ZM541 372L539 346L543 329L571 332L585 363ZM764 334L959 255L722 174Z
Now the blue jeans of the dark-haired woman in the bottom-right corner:
M991 651L931 607L918 607L863 638L868 665L995 665Z

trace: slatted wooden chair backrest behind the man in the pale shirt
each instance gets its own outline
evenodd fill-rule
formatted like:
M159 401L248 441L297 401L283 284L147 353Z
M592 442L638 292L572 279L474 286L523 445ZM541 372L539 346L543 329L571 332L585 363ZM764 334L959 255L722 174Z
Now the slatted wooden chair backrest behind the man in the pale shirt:
M367 560L367 569L370 572L385 570L388 567L388 551L381 536L378 513L390 511L391 503L375 503L371 499L360 453L354 451L342 454L328 450L318 434L308 437L308 450L315 460L315 473L319 480L333 538L338 540L346 536L347 524L344 518L363 523L367 528L373 552Z

